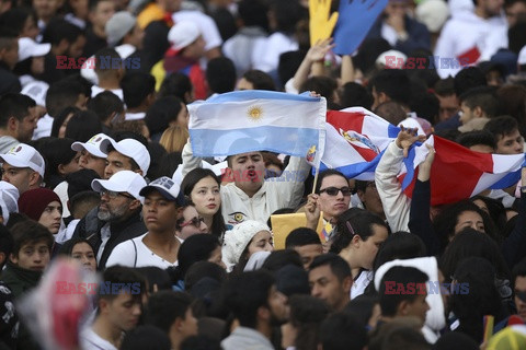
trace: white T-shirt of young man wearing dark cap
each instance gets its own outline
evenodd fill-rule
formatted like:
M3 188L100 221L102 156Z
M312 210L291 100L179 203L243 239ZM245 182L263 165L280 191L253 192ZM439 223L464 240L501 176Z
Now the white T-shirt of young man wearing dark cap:
M142 238L145 238L148 232L117 245L107 258L106 268L114 265L128 267L155 266L164 270L169 267L178 266L178 261L172 264L164 260L146 246Z

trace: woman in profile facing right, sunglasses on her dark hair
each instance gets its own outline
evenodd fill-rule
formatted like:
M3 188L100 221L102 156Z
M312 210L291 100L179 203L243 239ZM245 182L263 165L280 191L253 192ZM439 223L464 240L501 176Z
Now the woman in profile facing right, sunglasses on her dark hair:
M373 280L373 261L388 234L384 220L367 210L352 208L339 217L330 252L351 267L351 299L363 294Z

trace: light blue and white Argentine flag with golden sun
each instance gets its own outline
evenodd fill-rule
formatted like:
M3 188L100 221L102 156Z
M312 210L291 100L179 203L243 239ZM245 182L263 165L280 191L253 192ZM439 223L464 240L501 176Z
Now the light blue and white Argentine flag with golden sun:
M308 93L236 91L194 102L188 113L196 156L272 151L305 158L324 148L327 102Z

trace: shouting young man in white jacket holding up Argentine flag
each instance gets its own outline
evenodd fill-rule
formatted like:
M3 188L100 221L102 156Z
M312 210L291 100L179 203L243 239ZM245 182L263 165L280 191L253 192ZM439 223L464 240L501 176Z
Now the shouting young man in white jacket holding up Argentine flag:
M242 143L242 140L239 143ZM236 141L236 142L238 142ZM236 142L232 149L236 149ZM190 141L183 149L183 176L199 167L202 159L192 153ZM265 162L261 152L248 152L227 158L232 183L221 186L221 209L225 222L236 225L245 220L266 222L282 208L295 208L304 194L304 182L310 165L304 159L290 158L279 177L265 180Z

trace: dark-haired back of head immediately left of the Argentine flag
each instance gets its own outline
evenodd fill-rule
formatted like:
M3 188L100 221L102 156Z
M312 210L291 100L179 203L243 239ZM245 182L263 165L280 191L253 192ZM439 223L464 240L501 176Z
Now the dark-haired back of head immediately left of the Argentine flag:
M175 96L165 96L157 100L148 108L145 116L146 126L151 135L163 132L175 121L179 113L183 108L182 101Z

